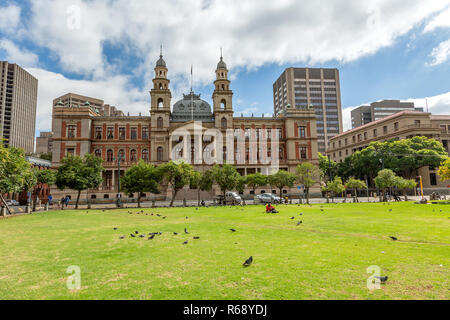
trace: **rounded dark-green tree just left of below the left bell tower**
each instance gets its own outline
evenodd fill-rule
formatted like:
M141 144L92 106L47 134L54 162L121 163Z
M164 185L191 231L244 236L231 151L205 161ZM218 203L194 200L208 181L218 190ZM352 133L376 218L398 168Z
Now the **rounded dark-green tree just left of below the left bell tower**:
M126 192L138 193L138 208L140 208L142 193L159 193L161 178L161 174L155 166L141 160L125 172L121 183Z

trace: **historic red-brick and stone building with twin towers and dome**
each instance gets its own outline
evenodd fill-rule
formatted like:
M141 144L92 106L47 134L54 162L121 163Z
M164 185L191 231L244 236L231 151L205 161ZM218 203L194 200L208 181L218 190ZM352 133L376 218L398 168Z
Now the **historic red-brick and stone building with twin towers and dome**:
M68 154L93 153L104 160L103 185L98 190L89 190L86 195L89 198L116 197L119 158L120 175L139 160L158 166L177 156L190 161L198 171L211 167L210 158L232 163L241 175L270 173L276 168L294 172L301 162L318 163L314 109L288 108L276 118L233 117L233 91L222 57L215 71L212 108L192 89L171 108L168 68L162 55L154 70L150 116L125 116L117 110L108 113L101 100L82 96L77 96L77 104L69 103L67 97L66 101L55 99L53 166L58 167ZM162 189L161 196L170 197L170 190ZM266 186L256 192L276 192L275 189ZM297 186L284 190L286 194L297 192ZM218 193L215 188L209 196ZM245 192L250 193L253 191ZM185 195L195 199L197 192L187 188L180 192L180 197Z

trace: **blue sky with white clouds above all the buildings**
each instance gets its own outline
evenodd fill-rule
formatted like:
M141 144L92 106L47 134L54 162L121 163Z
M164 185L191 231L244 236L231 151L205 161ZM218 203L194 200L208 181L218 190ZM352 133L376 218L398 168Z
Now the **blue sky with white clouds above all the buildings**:
M37 135L68 92L148 115L161 44L172 105L191 65L212 104L223 48L236 115L271 115L288 67L339 69L344 129L383 99L450 114L450 0L0 0L0 60L39 80Z

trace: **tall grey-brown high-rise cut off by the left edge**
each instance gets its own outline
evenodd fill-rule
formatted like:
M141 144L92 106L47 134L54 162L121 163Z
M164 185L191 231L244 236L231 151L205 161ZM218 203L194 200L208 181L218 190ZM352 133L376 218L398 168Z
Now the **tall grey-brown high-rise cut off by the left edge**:
M38 80L17 64L0 61L0 139L34 152Z

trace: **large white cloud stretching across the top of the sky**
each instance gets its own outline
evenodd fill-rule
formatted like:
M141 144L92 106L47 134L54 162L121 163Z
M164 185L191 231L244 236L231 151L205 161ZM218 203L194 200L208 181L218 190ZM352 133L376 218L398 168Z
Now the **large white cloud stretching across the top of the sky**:
M369 1L127 1L41 0L32 2L29 30L67 71L102 76L111 71L104 44L120 43L124 56L141 63L151 78L164 43L171 75L196 69L213 79L219 47L232 70L266 63L352 61L391 45L448 0ZM80 8L80 28L68 28Z

